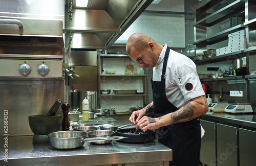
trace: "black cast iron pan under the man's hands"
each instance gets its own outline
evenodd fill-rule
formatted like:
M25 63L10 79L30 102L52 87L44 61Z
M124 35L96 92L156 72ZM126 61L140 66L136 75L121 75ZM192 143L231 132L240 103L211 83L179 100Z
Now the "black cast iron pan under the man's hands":
M118 140L123 143L147 143L149 141L153 141L156 139L156 132L155 130L147 130L143 132L139 129L135 134L136 128L124 128L124 129L117 129L116 136L124 136L128 138L123 138Z

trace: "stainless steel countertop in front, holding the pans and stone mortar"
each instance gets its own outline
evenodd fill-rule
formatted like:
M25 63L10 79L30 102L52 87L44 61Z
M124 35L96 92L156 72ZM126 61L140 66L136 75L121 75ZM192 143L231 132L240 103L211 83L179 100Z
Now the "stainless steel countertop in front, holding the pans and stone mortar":
M109 116L101 116L91 120L103 123L114 122ZM33 136L10 136L8 137L8 165L102 165L118 163L140 163L172 160L172 150L151 141L145 144L127 144L112 141L110 144L95 145L84 143L77 149L57 150L50 143L38 144L32 142ZM1 159L4 163L5 139L0 139Z

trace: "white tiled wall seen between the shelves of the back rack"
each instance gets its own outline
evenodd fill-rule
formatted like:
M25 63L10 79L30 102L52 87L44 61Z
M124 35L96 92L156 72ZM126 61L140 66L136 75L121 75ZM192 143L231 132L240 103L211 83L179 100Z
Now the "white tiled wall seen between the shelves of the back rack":
M104 72L108 70L114 71L116 74L123 75L127 64L133 64L134 68L140 69L137 62L130 58L104 58ZM103 73L104 74L104 73ZM143 92L142 77L105 77L105 83L100 84L100 89L111 89L111 94L114 94L114 89L120 90L137 90ZM100 99L101 108L115 108L117 113L132 111L131 107L143 107L143 97L102 97Z

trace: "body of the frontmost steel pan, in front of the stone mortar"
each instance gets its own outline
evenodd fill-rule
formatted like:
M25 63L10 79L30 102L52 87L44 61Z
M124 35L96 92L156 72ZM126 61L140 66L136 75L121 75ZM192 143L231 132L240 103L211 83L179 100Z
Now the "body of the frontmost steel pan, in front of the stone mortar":
M55 149L74 149L83 146L82 138L87 133L83 131L57 131L48 134L50 145Z

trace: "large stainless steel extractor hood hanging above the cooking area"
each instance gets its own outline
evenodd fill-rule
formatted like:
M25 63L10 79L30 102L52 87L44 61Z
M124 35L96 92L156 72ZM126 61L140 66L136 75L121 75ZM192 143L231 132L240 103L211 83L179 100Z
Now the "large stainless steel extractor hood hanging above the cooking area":
M107 49L153 0L93 0L89 8L65 3L65 47Z

